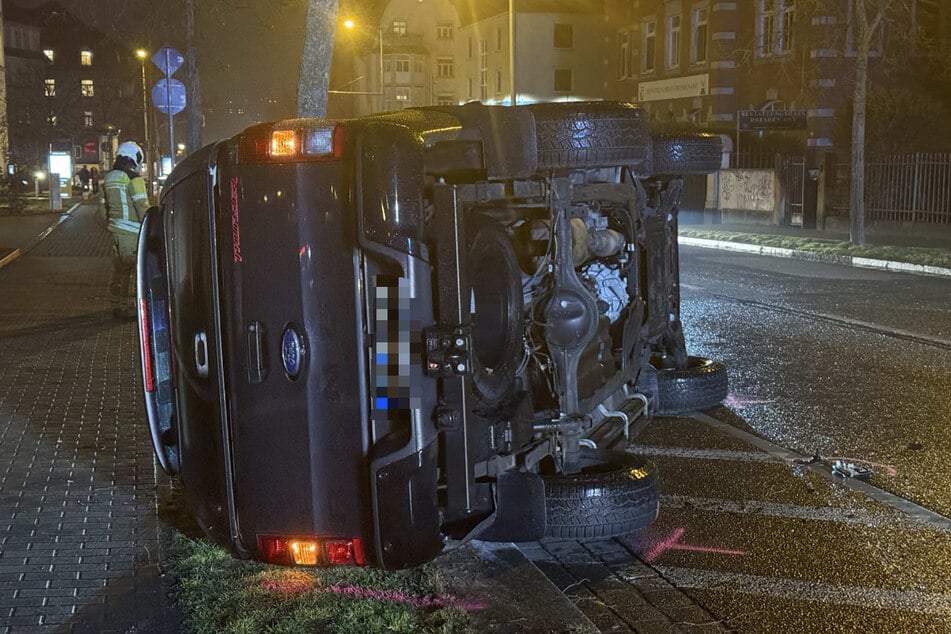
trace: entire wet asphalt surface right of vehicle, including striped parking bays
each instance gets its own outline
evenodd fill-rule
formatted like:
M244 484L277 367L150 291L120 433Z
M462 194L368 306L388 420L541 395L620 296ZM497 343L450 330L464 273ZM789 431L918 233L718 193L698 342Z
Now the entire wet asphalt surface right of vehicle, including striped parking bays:
M620 541L726 629L951 631L951 280L684 248L681 281L730 397L637 437L662 512Z

